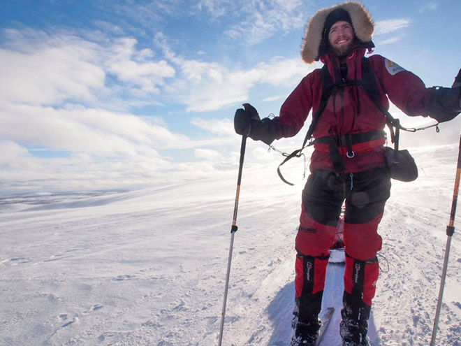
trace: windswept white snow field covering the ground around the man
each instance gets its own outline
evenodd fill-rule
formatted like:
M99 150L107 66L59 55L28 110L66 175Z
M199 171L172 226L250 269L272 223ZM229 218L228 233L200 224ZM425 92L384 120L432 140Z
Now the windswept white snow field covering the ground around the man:
M389 268L381 260L374 346L427 346L432 333L458 145L411 153L420 178L393 182L379 229ZM0 345L217 345L236 182L237 170L0 199ZM223 345L288 345L302 187L274 164L244 166ZM437 345L461 345L460 245L455 231ZM336 311L323 345L337 346L341 264L324 297Z

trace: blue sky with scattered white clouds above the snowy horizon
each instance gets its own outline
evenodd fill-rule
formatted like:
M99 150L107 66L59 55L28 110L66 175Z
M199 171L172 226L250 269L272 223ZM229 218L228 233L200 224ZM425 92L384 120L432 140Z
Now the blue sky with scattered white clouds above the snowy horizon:
M0 194L140 189L235 171L235 110L249 102L261 117L278 114L321 67L300 59L306 22L335 3L3 0ZM461 67L458 1L363 3L374 54L427 87L451 86ZM390 111L407 127L434 124ZM457 143L458 119L439 128L402 134L401 146ZM306 131L274 144L294 150ZM282 159L249 141L247 164Z

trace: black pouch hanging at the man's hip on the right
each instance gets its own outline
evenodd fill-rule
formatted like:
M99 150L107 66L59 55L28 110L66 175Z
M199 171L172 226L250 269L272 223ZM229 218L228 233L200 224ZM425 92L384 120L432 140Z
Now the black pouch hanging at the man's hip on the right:
M418 178L418 166L408 150L398 150L396 154L392 147L386 147L385 155L390 178L402 182L412 182Z

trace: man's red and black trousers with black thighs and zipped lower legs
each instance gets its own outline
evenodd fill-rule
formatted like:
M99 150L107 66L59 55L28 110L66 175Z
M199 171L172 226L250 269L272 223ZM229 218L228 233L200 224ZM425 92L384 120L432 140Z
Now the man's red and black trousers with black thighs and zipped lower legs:
M389 196L387 167L344 174L317 170L309 175L296 236L295 297L300 320L315 319L320 312L328 249L335 242L343 203L344 291L356 297L353 301L372 305L379 276L376 253L382 244L377 229Z

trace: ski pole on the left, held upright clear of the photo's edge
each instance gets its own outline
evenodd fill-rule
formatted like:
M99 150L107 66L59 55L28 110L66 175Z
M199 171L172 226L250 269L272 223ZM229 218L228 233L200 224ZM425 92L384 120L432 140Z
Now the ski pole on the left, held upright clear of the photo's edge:
M247 104L243 106L247 110ZM237 192L235 193L235 205L234 205L234 216L231 227L231 245L229 245L229 258L227 262L227 275L226 275L226 289L224 289L224 301L223 301L223 310L221 312L221 326L219 328L219 343L218 346L221 346L223 340L223 331L224 331L224 316L226 315L226 301L227 301L227 292L229 288L229 277L231 276L231 261L232 261L232 249L234 246L234 235L237 231L237 210L238 210L238 199L240 196L240 183L242 182L242 169L243 169L243 159L245 156L245 147L247 146L247 134L248 131L244 131L242 135L242 145L240 146L240 165L238 168L238 178L237 178Z

